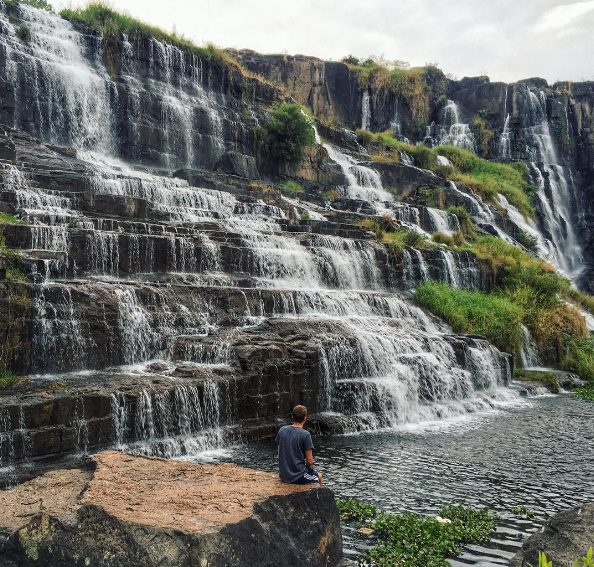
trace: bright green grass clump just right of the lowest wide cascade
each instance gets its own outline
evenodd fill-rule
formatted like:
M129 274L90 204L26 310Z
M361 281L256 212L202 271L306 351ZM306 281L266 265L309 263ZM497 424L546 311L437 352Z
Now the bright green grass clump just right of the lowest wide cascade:
M426 282L417 288L415 299L455 332L483 335L507 352L517 352L519 348L523 310L505 297L453 289L443 282Z

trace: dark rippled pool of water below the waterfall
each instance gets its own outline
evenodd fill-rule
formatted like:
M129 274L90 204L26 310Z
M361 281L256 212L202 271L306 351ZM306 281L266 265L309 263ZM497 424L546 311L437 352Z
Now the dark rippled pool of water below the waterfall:
M488 506L500 517L487 545L465 548L460 565L507 565L528 534L550 515L594 501L594 404L569 396L527 400L462 420L314 439L315 467L338 497L392 512L436 514L452 502ZM215 459L277 470L274 444L244 445ZM527 506L534 518L514 515ZM368 538L347 528L345 555Z

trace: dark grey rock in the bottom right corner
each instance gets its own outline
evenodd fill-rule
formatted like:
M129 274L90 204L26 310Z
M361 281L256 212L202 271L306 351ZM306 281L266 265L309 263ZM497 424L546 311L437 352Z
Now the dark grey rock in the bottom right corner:
M594 504L584 504L553 516L543 528L529 537L521 551L510 560L511 567L538 565L538 553L559 567L581 563L594 546Z

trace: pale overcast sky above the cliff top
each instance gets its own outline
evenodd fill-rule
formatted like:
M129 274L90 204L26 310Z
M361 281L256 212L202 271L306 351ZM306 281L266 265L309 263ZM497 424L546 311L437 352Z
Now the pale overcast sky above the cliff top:
M85 1L55 0L56 8ZM594 79L594 0L113 0L196 43L339 60L383 54L457 77Z

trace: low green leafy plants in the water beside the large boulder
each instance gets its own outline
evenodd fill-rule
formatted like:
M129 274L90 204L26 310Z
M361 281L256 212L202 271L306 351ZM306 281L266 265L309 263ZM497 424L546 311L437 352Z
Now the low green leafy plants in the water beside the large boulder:
M439 521L418 514L389 514L350 499L337 504L343 521L363 523L378 538L361 562L383 567L449 567L447 558L459 555L462 544L487 542L495 529L496 517L486 508L446 506L439 510Z

